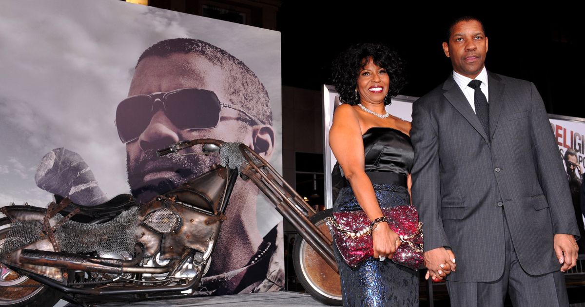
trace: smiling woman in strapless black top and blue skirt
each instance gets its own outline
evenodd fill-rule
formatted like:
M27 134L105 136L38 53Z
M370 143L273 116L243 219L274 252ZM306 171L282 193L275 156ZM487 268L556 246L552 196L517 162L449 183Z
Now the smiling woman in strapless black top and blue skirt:
M329 144L349 184L335 211L363 210L371 221L384 207L409 205L414 151L410 123L384 107L404 85L402 62L378 44L358 44L333 63L333 85L345 104L333 115ZM374 226L374 257L357 268L335 256L345 306L418 306L418 272L393 263L398 234L386 222Z

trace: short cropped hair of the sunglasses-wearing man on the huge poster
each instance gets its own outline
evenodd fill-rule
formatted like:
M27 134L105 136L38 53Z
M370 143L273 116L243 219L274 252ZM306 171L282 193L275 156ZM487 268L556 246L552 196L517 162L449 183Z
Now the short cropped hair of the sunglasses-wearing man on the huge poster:
M268 92L259 78L238 58L219 47L198 39L167 39L144 50L136 67L147 57L168 57L174 53L194 53L218 65L226 74L223 82L229 104L240 106L261 123L272 125L272 109ZM225 101L228 102L228 101Z

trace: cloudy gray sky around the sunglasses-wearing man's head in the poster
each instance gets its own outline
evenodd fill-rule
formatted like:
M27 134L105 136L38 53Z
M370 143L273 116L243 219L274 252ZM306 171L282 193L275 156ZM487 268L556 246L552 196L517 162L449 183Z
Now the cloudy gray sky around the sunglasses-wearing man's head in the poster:
M0 2L0 205L46 205L40 158L66 147L113 197L129 192L114 125L142 51L163 39L205 40L242 60L269 92L281 169L280 33L117 0Z

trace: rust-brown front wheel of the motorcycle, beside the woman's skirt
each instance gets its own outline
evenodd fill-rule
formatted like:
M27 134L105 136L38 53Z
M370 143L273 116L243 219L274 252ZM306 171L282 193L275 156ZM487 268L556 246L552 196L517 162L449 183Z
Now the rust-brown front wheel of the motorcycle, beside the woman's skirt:
M331 239L325 219L331 216L333 209L317 212L311 217L315 224L326 236ZM300 234L295 236L293 251L294 269L302 287L317 301L326 305L341 306L341 281L339 274L309 246Z

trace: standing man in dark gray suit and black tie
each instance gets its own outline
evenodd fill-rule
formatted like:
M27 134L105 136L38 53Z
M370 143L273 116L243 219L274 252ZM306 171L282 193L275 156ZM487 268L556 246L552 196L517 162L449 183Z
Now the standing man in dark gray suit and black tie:
M479 20L453 22L453 74L413 106L425 265L452 306L503 306L508 291L515 306L568 306L579 230L559 150L534 84L486 71L487 49Z

